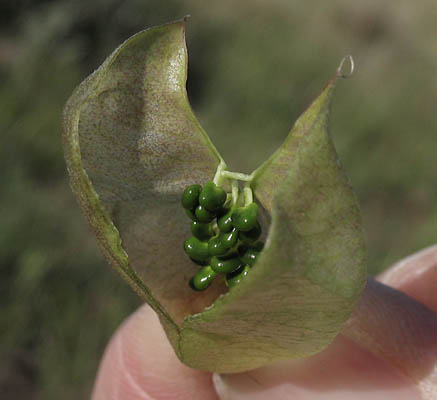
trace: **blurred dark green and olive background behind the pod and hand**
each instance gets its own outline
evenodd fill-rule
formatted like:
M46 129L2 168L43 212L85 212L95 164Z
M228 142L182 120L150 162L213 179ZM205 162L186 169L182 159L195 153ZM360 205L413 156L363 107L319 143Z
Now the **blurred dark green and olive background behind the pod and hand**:
M189 97L241 172L279 146L352 54L331 131L362 206L369 271L435 243L435 0L205 3L0 1L1 399L89 398L105 344L140 305L69 189L61 112L145 27L191 14Z

